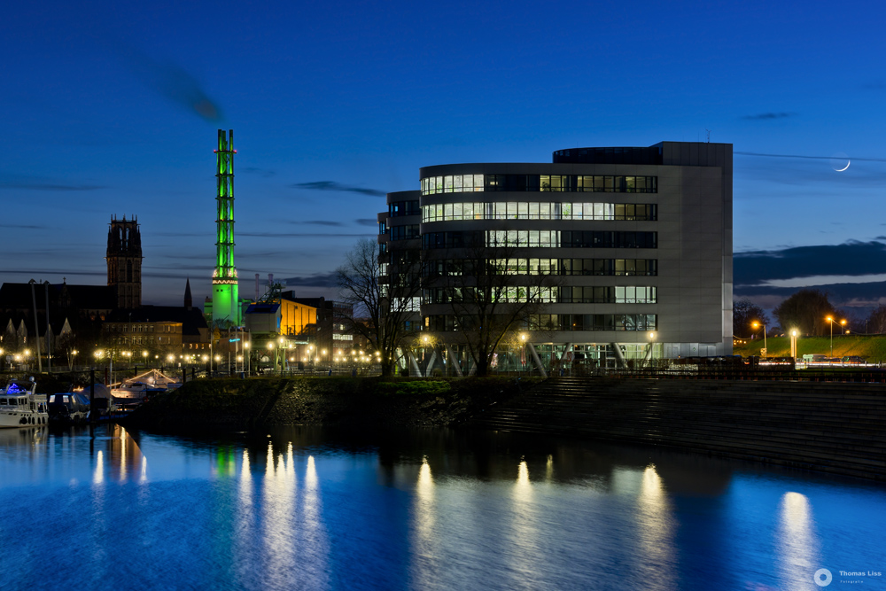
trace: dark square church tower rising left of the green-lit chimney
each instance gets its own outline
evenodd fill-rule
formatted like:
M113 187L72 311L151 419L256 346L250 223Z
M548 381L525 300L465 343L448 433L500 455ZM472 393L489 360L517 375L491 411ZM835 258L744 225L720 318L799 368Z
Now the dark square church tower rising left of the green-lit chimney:
M142 305L142 236L138 220L118 220L114 215L108 224L108 285L114 288L117 307L133 309Z

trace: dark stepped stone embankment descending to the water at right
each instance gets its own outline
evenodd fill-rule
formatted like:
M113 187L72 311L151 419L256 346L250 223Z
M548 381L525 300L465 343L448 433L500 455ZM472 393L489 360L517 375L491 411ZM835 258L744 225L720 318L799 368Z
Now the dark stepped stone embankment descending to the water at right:
M886 480L886 385L561 377L468 424Z

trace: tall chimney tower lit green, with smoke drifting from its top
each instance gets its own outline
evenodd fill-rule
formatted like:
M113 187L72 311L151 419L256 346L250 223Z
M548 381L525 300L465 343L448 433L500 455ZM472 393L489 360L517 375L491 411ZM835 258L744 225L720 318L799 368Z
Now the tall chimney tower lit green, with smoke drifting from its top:
M218 217L215 219L215 270L213 272L213 323L240 325L237 268L234 267L234 130L225 137L219 129L215 151Z

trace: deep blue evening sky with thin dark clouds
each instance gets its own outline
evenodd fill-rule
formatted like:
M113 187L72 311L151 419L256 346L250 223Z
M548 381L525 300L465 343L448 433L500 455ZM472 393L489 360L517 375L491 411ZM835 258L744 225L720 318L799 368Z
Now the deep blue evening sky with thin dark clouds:
M706 129L736 152L886 158L884 12L871 2L11 3L0 19L0 281L102 284L107 222L137 214L144 303L180 302L189 276L202 299L217 128L235 132L246 295L255 273L299 277L290 284L305 296L328 291L342 254L376 231L385 198L373 191L417 189L422 166L547 162L568 147L703 141ZM886 256L846 269L844 249L831 248L882 251L886 162L832 165L735 156L735 251L773 263L757 273L736 262L736 292L771 303L783 284L749 285L886 273ZM802 270L779 268L785 249L808 255ZM828 281L838 283L794 284Z

